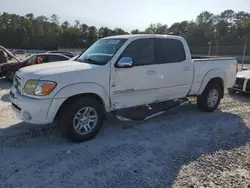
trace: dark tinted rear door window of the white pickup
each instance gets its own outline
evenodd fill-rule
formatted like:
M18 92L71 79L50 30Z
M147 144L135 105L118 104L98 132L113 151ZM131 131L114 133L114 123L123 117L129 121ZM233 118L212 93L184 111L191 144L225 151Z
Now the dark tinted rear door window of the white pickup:
M186 53L180 40L156 38L155 58L157 64L177 63L186 60Z

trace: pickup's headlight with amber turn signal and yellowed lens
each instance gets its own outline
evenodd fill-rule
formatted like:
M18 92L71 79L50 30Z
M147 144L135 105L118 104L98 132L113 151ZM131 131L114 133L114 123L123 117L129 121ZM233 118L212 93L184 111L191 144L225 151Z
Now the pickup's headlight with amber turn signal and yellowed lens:
M23 91L30 95L48 95L56 87L56 83L53 81L39 81L39 80L28 80L24 86Z

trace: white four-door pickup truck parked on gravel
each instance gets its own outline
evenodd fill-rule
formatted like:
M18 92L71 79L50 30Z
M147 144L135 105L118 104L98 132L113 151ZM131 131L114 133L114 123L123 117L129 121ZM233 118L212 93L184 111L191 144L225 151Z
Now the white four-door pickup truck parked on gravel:
M212 112L235 78L235 59L192 59L182 37L112 36L75 60L20 69L10 99L25 122L58 120L63 135L81 142L120 109L197 96L198 107Z

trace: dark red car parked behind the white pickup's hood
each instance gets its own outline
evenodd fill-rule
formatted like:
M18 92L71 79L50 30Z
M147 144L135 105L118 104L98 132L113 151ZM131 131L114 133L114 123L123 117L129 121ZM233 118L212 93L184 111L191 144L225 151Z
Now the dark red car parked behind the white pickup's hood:
M41 63L65 61L69 59L69 57L61 54L44 53L44 54L30 55L23 60L0 64L0 77L6 76L8 80L12 81L17 70L19 70L22 67L38 64L36 61L39 58L42 60Z

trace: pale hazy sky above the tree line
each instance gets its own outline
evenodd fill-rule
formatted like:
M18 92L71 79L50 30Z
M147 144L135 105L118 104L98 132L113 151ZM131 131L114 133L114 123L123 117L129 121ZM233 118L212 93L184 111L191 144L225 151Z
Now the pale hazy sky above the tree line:
M97 28L144 30L151 23L171 25L195 20L202 11L218 14L226 9L250 12L250 0L0 0L0 12L75 20Z

